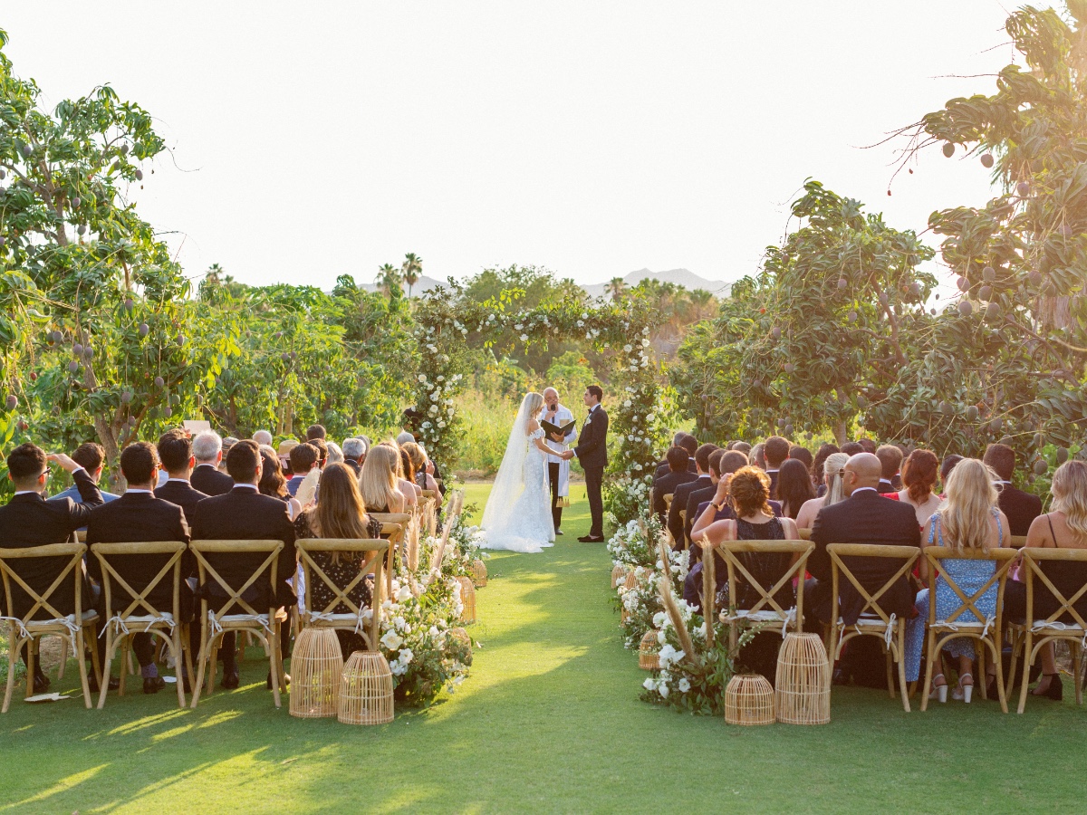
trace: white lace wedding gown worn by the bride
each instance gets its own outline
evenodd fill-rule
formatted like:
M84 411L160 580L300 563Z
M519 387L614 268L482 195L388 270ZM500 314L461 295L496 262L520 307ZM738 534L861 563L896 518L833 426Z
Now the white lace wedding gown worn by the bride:
M536 440L544 438L544 428L540 427L523 437L527 450L521 468L522 485L512 505L507 503L504 494L500 497L499 491L492 491L487 501L484 510L487 549L539 552L544 547L554 546L547 457L536 446ZM507 505L492 505L491 501L496 499Z

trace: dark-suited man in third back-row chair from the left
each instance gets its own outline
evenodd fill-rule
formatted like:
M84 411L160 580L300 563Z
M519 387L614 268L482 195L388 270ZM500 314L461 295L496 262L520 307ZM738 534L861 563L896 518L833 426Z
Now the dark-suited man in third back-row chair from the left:
M257 490L262 475L261 454L257 443L246 440L235 444L226 456L226 469L234 479L234 489L226 494L214 496L197 504L192 512L192 540L282 540L286 546L279 553L276 586L271 586L266 579L258 579L250 587L253 597L252 599L247 597L247 601L258 612L273 604L295 605L297 598L287 585L287 580L295 576L295 527L287 515L286 503L272 496L262 496ZM264 555L224 554L213 559L212 563L224 580L232 586L240 587L263 560ZM216 600L222 602L222 589L217 585L201 586L198 590L207 594L212 609L216 607ZM208 620L200 620L200 625L208 625ZM190 628L193 632L190 642L195 642L195 647L199 648L199 626L193 625ZM285 651L288 632L289 627L285 623L280 632L280 642ZM233 638L227 637L223 638L223 687L237 688L238 664L235 643ZM268 688L271 687L270 676Z

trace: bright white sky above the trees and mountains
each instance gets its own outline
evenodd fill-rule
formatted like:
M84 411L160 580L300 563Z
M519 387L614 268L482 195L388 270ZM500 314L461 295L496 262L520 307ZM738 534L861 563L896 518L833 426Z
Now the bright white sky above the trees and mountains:
M980 203L939 148L887 197L861 150L1013 60L995 0L9 2L8 55L52 108L111 83L173 150L140 213L191 276L373 280L546 266L753 272L812 176L924 229ZM929 242L932 236L928 236Z

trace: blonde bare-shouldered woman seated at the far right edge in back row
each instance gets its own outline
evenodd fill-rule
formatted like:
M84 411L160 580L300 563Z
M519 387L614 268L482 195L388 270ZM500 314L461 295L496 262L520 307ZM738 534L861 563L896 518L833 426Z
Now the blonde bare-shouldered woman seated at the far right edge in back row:
M955 467L958 469L958 467ZM1039 515L1032 524L1026 536L1027 547L1044 547L1048 549L1087 549L1087 463L1067 461L1053 473L1053 502L1050 512ZM1071 600L1087 582L1087 564L1083 563L1046 563L1042 573L1053 584L1061 594ZM1034 580L1034 618L1046 619L1053 614L1061 603L1040 579ZM1087 592L1076 602L1075 610L1079 616L1087 619ZM1007 620L1022 623L1026 619L1026 584L1009 580L1004 587L1004 614ZM1061 623L1074 624L1071 614L1063 614ZM1057 660L1053 643L1048 642L1040 650L1041 679L1030 692L1036 697L1046 697L1061 701L1064 688L1057 670Z

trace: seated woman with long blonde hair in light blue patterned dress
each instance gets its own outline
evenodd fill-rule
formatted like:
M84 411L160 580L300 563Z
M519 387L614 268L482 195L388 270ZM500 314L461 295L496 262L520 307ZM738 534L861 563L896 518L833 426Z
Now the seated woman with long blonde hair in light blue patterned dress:
M948 500L928 518L921 535L922 548L949 548L955 552L988 552L990 549L1011 546L1008 534L1008 518L997 507L997 490L992 485L992 473L977 459L964 459L954 468L948 481ZM996 572L995 561L946 560L942 563L951 580L967 597L974 597L982 587L992 578ZM919 561L919 572L922 580L929 577L928 561ZM916 607L919 615L907 620L905 628L905 678L916 681L921 672L925 641L925 624L928 622L928 603L932 601L928 589L917 592ZM986 619L995 618L997 614L997 584L994 582L974 605ZM945 580L936 585L936 618L947 619L963 606L960 597ZM965 610L955 617L957 623L985 623L971 611ZM949 640L944 651L959 659L959 687L953 698L970 702L974 688L974 645L973 640L965 637ZM996 669L992 670L996 680ZM994 691L996 686L994 686ZM944 672L933 676L933 687L929 699L939 698L946 702L948 698L947 680Z

